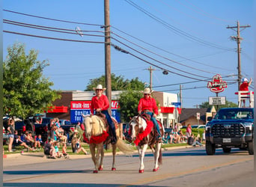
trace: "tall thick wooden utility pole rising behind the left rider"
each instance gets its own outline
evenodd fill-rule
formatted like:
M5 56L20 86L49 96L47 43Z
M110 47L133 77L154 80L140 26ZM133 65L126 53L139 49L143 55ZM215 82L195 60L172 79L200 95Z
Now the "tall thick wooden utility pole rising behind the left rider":
M111 45L110 45L110 21L109 21L109 0L104 0L104 15L105 15L105 83L106 96L109 99L109 114L112 108L112 86L111 86Z

